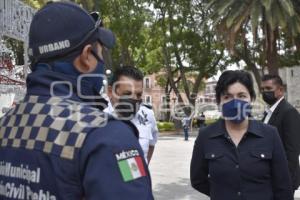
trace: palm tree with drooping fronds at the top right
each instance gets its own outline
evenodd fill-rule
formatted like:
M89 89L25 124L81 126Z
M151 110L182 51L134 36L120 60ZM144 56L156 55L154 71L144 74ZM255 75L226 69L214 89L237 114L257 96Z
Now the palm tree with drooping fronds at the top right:
M260 61L271 74L278 74L280 66L279 43L282 33L289 38L300 34L300 6L298 0L204 0L211 15L207 21L212 21L218 28L226 46L234 55L237 41L247 49L243 41L252 32L253 41L263 54ZM250 27L250 28L249 28ZM237 39L242 37L241 40ZM261 40L257 40L257 38ZM249 56L248 56L249 57Z

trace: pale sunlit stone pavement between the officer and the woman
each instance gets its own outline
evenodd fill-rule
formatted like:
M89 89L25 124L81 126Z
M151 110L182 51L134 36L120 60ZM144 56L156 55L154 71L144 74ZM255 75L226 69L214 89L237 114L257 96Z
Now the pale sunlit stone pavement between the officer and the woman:
M209 200L190 185L189 167L195 137L184 141L179 136L162 136L150 163L156 200ZM300 200L300 190L295 200Z

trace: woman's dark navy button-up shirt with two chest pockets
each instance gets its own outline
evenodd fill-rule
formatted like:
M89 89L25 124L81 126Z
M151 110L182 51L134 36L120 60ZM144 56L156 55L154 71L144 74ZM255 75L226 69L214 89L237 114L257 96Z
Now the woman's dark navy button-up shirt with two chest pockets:
M192 186L211 200L293 200L279 135L254 120L237 147L224 120L200 129L190 173Z

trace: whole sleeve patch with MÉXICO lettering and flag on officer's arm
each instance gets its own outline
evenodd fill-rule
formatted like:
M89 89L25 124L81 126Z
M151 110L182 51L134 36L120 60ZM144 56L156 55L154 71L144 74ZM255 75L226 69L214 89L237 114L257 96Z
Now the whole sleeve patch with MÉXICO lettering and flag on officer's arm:
M116 154L116 158L125 182L146 176L144 163L138 150L123 151Z

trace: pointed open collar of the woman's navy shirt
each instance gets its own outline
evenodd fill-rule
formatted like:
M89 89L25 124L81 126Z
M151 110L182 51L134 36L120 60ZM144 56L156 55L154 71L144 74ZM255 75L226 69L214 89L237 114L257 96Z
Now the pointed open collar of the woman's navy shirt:
M214 137L219 137L219 136L224 136L227 137L229 134L226 130L225 127L225 120L224 119L220 119L218 120L214 127L214 132L211 133L210 138L214 138ZM264 137L264 134L261 131L261 127L259 125L259 122L257 122L256 120L249 120L249 125L248 125L248 129L247 129L247 133L246 134L252 134L255 135L257 137Z

